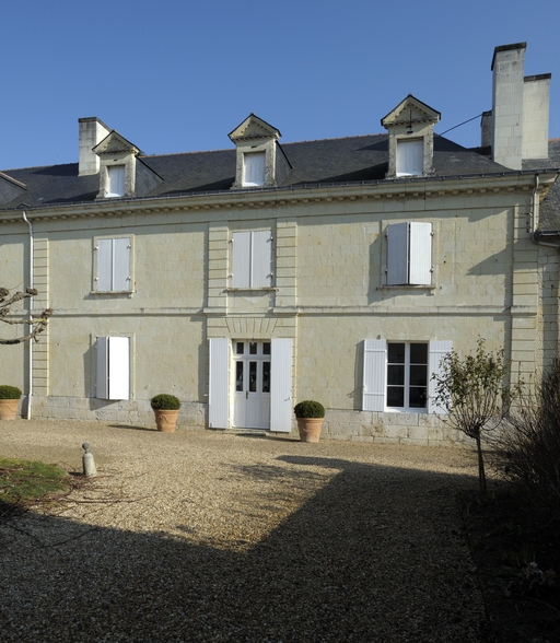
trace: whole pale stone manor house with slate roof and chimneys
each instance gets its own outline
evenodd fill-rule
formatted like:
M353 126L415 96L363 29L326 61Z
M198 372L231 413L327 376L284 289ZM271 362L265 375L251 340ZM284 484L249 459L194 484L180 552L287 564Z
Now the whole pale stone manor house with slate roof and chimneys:
M78 163L0 173L0 284L55 311L2 350L23 417L151 423L172 393L179 426L289 432L311 398L327 436L456 440L442 355L482 337L533 374L559 350L560 141L525 49L494 50L477 149L408 95L385 133L281 144L250 114L170 155L81 118Z

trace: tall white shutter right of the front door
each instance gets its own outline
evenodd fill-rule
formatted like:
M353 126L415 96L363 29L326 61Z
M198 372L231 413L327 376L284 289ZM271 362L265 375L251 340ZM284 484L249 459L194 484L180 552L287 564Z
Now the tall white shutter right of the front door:
M270 340L270 431L292 428L292 340Z

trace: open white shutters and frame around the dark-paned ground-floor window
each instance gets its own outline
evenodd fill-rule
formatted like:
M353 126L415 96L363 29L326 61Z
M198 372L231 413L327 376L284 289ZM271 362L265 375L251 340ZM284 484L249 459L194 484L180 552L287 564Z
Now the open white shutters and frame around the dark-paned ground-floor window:
M445 409L433 401L435 383L433 374L440 374L442 359L452 351L450 340L428 341L428 405L424 409L387 407L387 344L388 343L424 343L422 341L402 341L385 339L366 339L363 342L363 394L362 410L390 411L410 413L445 413Z

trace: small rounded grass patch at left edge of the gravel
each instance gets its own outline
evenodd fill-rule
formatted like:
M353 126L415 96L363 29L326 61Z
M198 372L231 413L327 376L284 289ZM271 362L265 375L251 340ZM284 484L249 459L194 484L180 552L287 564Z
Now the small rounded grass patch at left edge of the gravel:
M0 457L0 503L28 504L68 491L66 471L56 465Z

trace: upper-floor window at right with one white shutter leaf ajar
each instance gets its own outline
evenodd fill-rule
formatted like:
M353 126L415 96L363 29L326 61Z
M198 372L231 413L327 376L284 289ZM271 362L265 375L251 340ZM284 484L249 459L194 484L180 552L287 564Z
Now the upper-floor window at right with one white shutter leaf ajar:
M393 223L387 226L387 285L432 283L432 224Z

